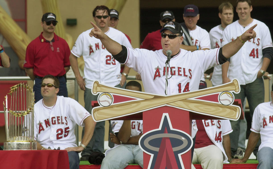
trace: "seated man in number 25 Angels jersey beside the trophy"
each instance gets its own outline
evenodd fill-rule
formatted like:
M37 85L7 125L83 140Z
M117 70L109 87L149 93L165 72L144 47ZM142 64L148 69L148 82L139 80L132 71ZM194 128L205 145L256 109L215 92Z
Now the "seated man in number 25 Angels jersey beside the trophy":
M38 150L67 150L70 169L78 169L78 152L91 140L96 122L84 107L70 97L57 96L59 80L52 75L42 78L43 99L34 105L34 139ZM75 127L85 126L81 144L77 146Z

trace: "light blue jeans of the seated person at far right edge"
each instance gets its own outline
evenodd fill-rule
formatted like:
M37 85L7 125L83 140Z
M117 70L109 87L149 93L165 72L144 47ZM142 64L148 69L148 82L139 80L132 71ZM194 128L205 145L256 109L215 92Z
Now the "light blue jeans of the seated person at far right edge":
M273 149L270 147L261 148L258 153L259 164L257 169L270 169L273 168Z

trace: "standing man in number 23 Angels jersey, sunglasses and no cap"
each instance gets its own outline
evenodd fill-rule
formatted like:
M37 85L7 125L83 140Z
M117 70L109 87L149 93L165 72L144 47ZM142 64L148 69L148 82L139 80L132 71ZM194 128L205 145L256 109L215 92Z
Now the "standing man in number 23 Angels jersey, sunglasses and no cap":
M93 19L96 27L116 42L132 48L124 33L108 26L109 15L108 7L104 5L97 6L93 10ZM90 31L91 29L86 30L78 36L69 57L78 85L80 89L84 90L84 108L89 113L92 110L91 101L97 101L98 97L98 95L92 94L93 82L99 80L101 83L109 86L122 87L129 73L129 70L125 72L125 69L122 74L120 73L120 63L113 58L112 54L108 52L99 39L91 38L88 35ZM77 59L81 56L83 56L85 63L84 77L80 75L77 62ZM80 160L88 160L92 152L104 151L104 124L105 121L96 124L94 135L88 145L85 145L86 149L82 151ZM82 131L83 134L84 129Z

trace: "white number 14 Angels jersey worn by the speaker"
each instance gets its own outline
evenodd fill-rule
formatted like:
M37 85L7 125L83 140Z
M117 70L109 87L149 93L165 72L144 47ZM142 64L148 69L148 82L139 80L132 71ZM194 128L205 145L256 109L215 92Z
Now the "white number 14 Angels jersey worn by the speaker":
M169 62L167 95L198 90L204 71L219 65L219 48L190 52L180 49ZM161 50L127 48L125 64L141 75L145 92L165 94L165 56Z

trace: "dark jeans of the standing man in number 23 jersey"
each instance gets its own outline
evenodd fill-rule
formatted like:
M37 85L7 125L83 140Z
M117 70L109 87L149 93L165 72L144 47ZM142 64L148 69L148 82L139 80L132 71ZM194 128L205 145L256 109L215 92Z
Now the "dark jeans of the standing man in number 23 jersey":
M120 85L116 85L115 87L120 87ZM91 101L97 101L98 100L98 95L93 95L92 94L92 89L85 88L84 91L84 108L91 113L92 111L92 105ZM81 156L84 155L90 155L92 152L104 152L104 125L105 121L100 121L97 122L94 133L92 136L92 139L86 146L86 149L84 149L81 153ZM82 137L84 135L84 127L82 129Z

